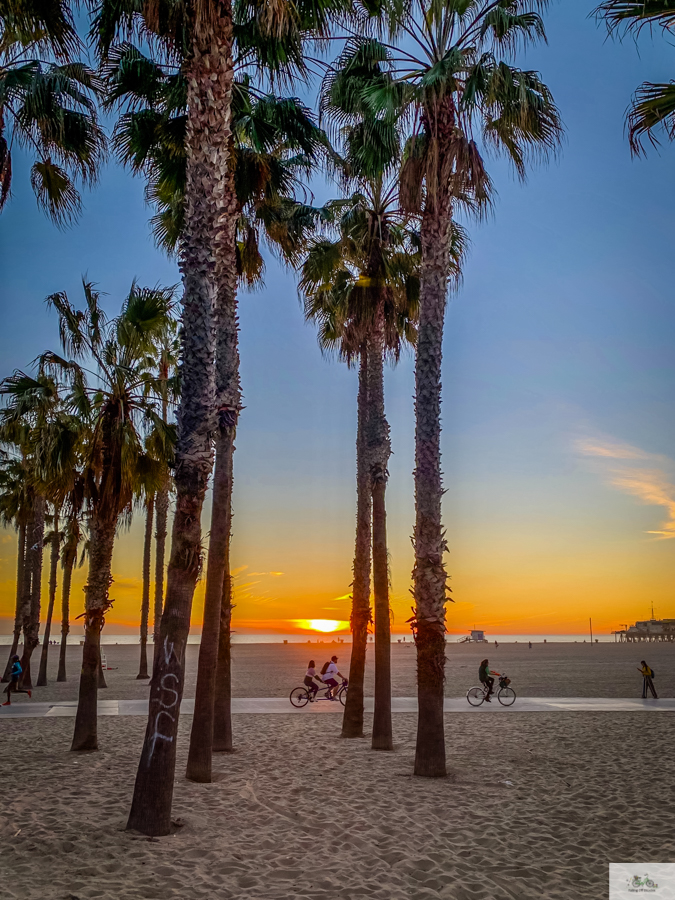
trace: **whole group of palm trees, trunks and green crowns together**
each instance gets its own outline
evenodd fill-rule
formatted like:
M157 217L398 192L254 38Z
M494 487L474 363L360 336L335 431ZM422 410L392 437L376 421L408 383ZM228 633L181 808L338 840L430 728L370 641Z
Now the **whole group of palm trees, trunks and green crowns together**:
M157 554L150 710L130 828L149 835L170 829L185 649L211 480L188 778L210 781L213 751L232 748L229 547L242 410L237 294L242 284L264 277L263 244L298 270L305 313L317 325L321 347L359 370L353 650L343 736L363 734L372 573L372 741L384 750L392 748L392 731L383 365L395 361L406 343L415 347L414 771L445 775L449 587L440 401L445 307L467 246L456 220L460 214L480 217L491 205L486 149L505 154L524 177L528 162L558 147L562 128L549 89L537 72L514 62L520 47L545 38L546 5L92 0L88 37L97 63L90 68L80 61L84 48L68 0L0 2L0 204L9 197L16 139L35 157L31 178L38 202L57 223L76 216L77 182L95 180L106 149L98 122L103 107L117 114L112 149L146 179L155 236L177 255L182 275L180 384L173 376L173 294L135 285L112 320L92 285L85 285L82 310L54 295L63 355L43 354L35 378L17 374L4 383L10 402L3 438L16 452L2 477L17 487L16 496L4 491L2 515L19 529L15 636L18 643L21 626L26 663L38 639L35 573L47 542L47 507L51 547L65 541L64 594L78 543L87 535L73 749L97 746L100 632L112 602L116 529L135 501L144 506L149 585L152 518L156 510L163 541L171 483L175 490L165 590L163 550ZM670 27L665 0L607 0L602 11L610 21L624 14L637 20L649 6L658 6L657 21ZM336 42L341 49L331 60ZM279 93L316 73L322 75L318 119L297 98ZM322 207L312 205L305 187L319 169L339 194ZM173 390L175 434L168 417ZM33 474L22 479L27 467ZM57 557L54 551L53 571ZM145 652L149 588L143 603ZM66 632L67 618L65 609ZM139 675L145 674L142 664Z

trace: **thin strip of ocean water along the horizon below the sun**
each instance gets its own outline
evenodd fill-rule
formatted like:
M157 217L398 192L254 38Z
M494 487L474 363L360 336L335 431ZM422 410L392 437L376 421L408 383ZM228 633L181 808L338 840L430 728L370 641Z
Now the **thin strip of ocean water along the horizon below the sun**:
M54 634L54 632L52 632ZM461 641L462 638L465 637L464 633L461 634L448 634L446 635L446 641L448 644L454 644L458 641ZM52 637L52 640L56 639L57 642L60 642L60 634L56 634L55 637ZM79 642L83 640L82 634L77 634L75 632L70 633L68 636L68 643L77 645ZM201 640L201 635L199 633L193 633L188 636L188 644L198 644ZM233 644L331 644L335 643L335 641L339 641L344 644L351 644L351 635L349 634L340 634L331 636L330 634L265 634L265 633L255 633L255 634L240 634L236 631L232 634L232 643ZM593 640L600 641L601 643L613 642L613 635L593 635ZM500 644L513 644L513 643L524 643L526 644L528 641L532 641L533 644L540 644L544 641L547 641L549 644L551 643L573 643L578 642L582 643L583 641L590 641L590 637L588 634L491 634L488 633L488 643L492 644L494 641L497 641ZM413 642L412 636L410 632L406 632L405 634L392 634L391 636L392 644L403 643L411 644ZM0 634L0 646L9 646L12 643L12 635L11 634ZM101 643L102 644L138 644L139 638L137 634L106 634L105 631L101 635Z

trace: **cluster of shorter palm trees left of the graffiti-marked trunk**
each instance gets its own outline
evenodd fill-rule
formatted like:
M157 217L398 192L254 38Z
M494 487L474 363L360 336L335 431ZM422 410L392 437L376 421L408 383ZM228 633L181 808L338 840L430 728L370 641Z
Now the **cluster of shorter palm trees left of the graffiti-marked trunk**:
M112 605L111 561L120 522L135 505L146 510L139 678L147 674L150 550L157 507L155 629L162 611L163 554L171 490L175 426L177 320L173 291L132 285L120 315L109 320L100 295L83 284L84 308L64 294L47 299L59 317L61 353L48 351L37 373L0 383L0 515L19 535L14 634L3 680L23 633L23 683L32 687L31 657L39 642L43 547L50 548L49 600L37 685L47 683L59 560L61 648L57 681L66 680L73 568L89 556L86 633L103 626ZM51 526L51 530L47 527ZM82 551L79 553L79 548ZM80 618L80 617L78 617ZM92 623L96 623L95 626ZM95 746L96 692L105 687L100 652L85 643L73 749ZM86 675L86 678L85 678ZM93 709L93 718L86 710Z

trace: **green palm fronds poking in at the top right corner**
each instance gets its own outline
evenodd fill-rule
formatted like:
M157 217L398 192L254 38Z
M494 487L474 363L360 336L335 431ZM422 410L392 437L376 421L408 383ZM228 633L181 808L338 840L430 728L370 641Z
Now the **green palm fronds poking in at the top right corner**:
M595 10L610 34L619 31L638 35L643 28L660 27L666 39L675 30L675 6L672 0L604 0ZM662 128L675 138L675 81L654 84L645 81L635 92L627 115L628 137L634 155L644 152L646 136L652 146L659 142L656 132Z

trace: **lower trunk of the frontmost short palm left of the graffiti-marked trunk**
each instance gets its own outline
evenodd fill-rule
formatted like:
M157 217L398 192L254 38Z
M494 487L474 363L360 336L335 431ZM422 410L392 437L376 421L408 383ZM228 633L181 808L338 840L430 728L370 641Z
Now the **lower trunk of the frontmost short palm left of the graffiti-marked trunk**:
M91 516L89 574L84 587L84 648L71 750L98 750L98 689L101 672L101 630L110 606L112 554L117 516L106 511ZM105 681L104 681L105 684Z

